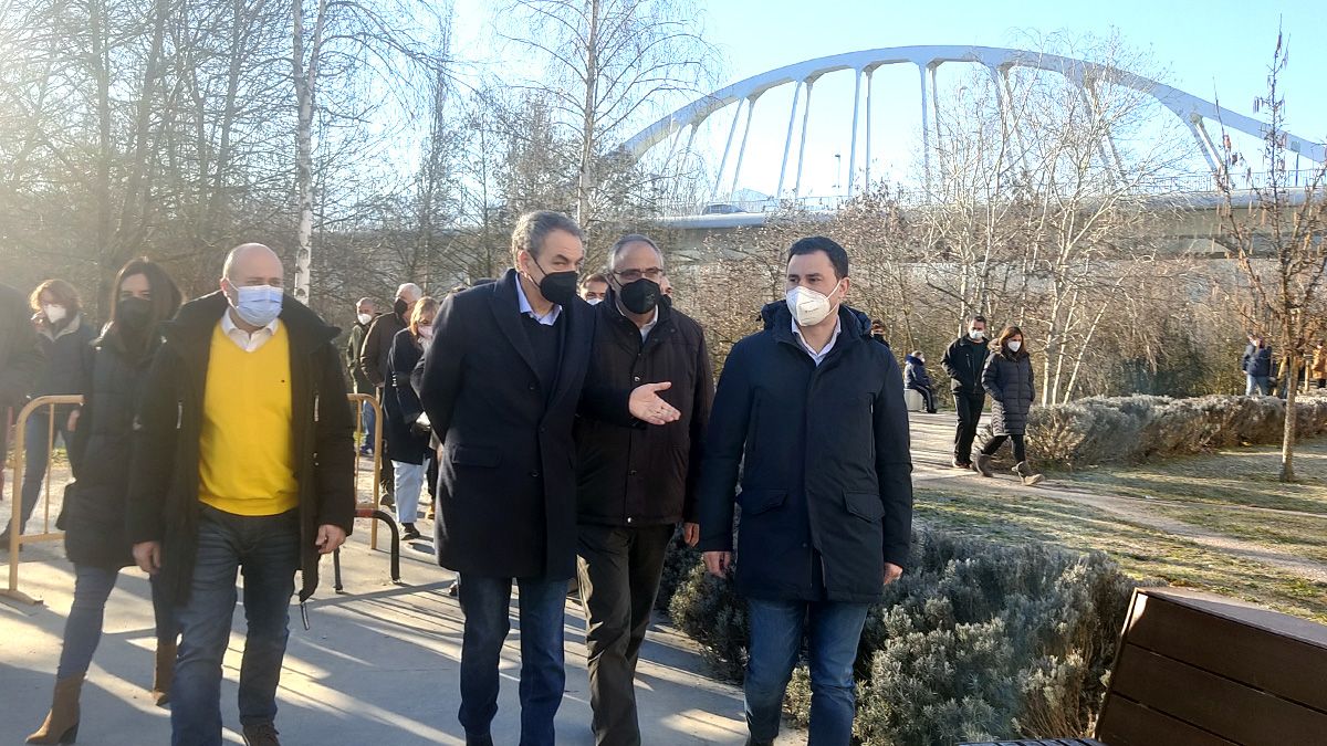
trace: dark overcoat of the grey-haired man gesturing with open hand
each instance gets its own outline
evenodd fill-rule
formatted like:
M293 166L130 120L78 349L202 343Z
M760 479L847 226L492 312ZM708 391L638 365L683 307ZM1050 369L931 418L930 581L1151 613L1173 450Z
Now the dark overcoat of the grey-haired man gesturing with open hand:
M419 401L442 439L438 564L486 577L571 579L576 567L576 443L594 313L559 317L557 382L540 381L516 272L447 296L423 358ZM597 398L591 397L589 409ZM608 411L626 414L628 393Z

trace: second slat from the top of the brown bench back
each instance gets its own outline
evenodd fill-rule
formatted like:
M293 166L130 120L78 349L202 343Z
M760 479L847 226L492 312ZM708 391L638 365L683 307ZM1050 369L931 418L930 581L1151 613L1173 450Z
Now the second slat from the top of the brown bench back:
M1245 746L1312 743L1327 733L1327 714L1127 642L1112 693ZM1115 704L1108 704L1112 710ZM1117 713L1108 711L1112 721ZM1104 719L1104 717L1103 717ZM1112 738L1099 730L1111 746Z

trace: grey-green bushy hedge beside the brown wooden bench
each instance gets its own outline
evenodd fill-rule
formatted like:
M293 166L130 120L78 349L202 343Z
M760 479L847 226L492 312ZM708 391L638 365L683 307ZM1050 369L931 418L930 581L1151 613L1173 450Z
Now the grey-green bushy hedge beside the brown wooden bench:
M929 746L1089 734L1135 585L1100 552L914 532L909 571L861 636L857 739ZM719 676L740 681L747 619L731 580L693 568L670 613ZM784 706L807 722L804 669Z

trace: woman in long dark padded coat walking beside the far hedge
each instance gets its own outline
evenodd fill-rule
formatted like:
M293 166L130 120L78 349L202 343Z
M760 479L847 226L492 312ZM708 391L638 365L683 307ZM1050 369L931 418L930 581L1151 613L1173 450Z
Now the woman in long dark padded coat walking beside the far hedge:
M1032 471L1027 465L1026 443L1023 435L1027 433L1027 413L1032 409L1032 400L1036 398L1036 382L1032 377L1032 357L1027 354L1023 342L1023 331L1018 327L1005 327L999 337L991 345L991 354L986 358L986 368L982 370L982 386L991 396L991 433L993 437L977 454L974 466L982 477L994 477L991 471L991 457L1005 445L1005 441L1014 441L1014 461L1018 474L1024 485L1036 485L1042 475Z

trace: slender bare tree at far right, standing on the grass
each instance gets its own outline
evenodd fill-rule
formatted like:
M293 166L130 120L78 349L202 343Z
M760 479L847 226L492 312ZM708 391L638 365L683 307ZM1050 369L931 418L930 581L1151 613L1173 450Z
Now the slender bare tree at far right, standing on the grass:
M1247 188L1238 188L1238 177L1231 175L1231 166L1238 159L1230 138L1222 137L1225 159L1217 178L1223 196L1223 243L1233 247L1243 275L1241 289L1245 303L1239 308L1250 328L1266 328L1274 335L1275 346L1285 360L1282 482L1295 479L1295 382L1315 335L1322 332L1320 320L1327 312L1323 297L1327 275L1327 163L1316 165L1307 178L1299 181L1295 179L1298 174L1287 169L1286 98L1281 90L1281 74L1287 61L1285 38L1278 33L1267 68L1267 92L1254 101L1254 110L1269 117L1262 139L1266 173L1249 179Z

